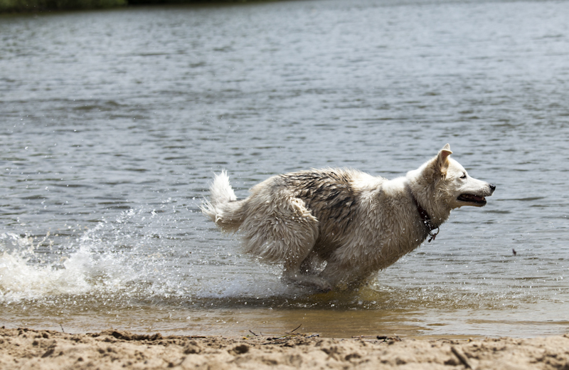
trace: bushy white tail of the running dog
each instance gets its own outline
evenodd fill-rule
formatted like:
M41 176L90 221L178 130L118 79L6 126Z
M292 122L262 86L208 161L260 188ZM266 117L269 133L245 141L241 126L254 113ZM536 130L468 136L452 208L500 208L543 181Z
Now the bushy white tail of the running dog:
M200 208L223 231L237 231L245 216L243 201L238 201L229 184L225 170L216 174L210 186L211 201L204 200Z

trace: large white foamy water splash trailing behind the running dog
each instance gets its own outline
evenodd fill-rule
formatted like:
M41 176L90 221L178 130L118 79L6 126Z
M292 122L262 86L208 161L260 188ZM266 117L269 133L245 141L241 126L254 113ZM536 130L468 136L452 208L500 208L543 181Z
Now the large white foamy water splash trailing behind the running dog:
M166 273L160 258L164 248L148 253L144 247L156 232L140 236L132 230L141 227L141 218L157 214L148 213L124 211L114 221L101 221L59 244L55 241L59 236L49 232L40 238L0 234L0 302L154 292L153 282L164 280L160 275Z

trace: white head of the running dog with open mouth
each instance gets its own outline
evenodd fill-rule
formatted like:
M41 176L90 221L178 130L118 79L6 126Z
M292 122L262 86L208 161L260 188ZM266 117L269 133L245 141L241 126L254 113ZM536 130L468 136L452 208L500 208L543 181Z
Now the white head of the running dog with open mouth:
M432 194L433 201L445 203L450 209L486 205L486 196L491 196L496 186L469 176L461 164L450 158L450 154L450 145L446 144L437 157L410 174Z

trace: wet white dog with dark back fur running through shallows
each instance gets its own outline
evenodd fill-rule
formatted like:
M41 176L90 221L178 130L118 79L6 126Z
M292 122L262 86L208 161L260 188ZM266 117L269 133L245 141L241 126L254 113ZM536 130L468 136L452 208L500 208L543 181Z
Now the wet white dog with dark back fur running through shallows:
M453 208L486 204L496 186L470 177L451 153L446 144L393 180L354 169L272 176L241 201L222 171L201 210L223 231L239 231L246 252L284 263L288 282L323 291L357 287L434 239Z

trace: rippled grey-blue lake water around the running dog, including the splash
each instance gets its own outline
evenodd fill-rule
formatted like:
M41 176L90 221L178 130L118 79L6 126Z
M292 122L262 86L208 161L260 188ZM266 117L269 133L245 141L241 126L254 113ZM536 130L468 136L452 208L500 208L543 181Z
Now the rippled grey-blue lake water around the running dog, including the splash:
M282 1L0 16L0 324L569 330L569 1ZM312 294L199 211L272 174L496 184L359 292ZM514 255L513 250L516 250Z

